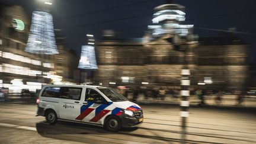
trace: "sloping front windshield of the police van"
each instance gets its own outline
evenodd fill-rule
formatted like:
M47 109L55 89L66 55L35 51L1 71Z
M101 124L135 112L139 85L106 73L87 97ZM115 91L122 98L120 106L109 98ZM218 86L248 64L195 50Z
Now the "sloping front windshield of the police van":
M126 97L119 94L117 91L115 91L112 88L98 88L105 96L107 96L111 101L117 102L117 101L128 101Z

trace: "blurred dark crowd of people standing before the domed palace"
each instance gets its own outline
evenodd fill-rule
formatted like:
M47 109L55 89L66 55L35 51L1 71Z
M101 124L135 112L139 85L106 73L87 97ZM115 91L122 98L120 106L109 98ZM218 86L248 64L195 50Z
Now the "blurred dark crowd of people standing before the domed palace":
M180 89L171 89L171 88L124 88L123 91L121 91L121 94L126 96L132 101L137 101L137 98L139 95L143 95L144 100L168 100L171 101L178 101L180 98ZM197 98L199 101L199 106L205 106L207 105L206 100L212 99L216 105L221 105L224 102L223 95L225 94L224 91L217 91L217 90L210 90L210 89L193 89L190 91L190 95ZM245 93L236 90L232 92L232 95L235 96L235 105L243 105L245 100Z

